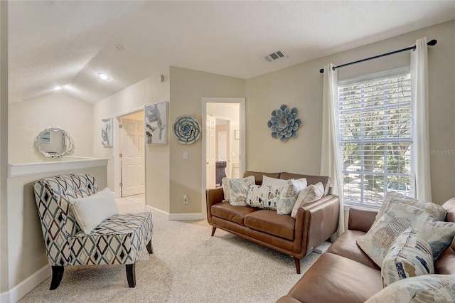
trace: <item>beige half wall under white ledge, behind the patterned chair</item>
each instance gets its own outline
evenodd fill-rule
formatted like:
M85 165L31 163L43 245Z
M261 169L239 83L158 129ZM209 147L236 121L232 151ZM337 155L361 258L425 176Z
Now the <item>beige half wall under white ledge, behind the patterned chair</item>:
M33 182L55 174L50 172L8 178L9 289L48 265ZM91 174L95 176L99 188L105 188L107 185L105 166L58 171L58 174Z

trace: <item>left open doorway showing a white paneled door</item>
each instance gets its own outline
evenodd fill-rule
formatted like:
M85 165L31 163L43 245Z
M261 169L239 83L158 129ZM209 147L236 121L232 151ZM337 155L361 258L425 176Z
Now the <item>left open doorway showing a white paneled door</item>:
M145 193L144 110L117 117L119 121L119 190L121 197Z

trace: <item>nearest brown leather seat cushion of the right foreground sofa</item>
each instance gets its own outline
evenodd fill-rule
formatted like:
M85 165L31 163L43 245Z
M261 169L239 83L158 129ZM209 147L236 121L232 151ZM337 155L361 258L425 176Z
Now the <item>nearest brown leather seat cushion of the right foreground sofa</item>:
M301 302L365 302L382 289L380 270L326 252L289 291Z

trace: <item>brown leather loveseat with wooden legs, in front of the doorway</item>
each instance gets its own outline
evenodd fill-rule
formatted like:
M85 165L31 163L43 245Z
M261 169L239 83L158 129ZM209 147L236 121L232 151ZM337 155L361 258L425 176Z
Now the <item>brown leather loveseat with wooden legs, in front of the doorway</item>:
M296 218L278 215L277 211L250 206L231 206L223 202L223 187L208 189L207 220L212 225L212 235L221 228L241 238L272 248L294 257L297 273L300 259L336 232L338 228L338 196L329 193L330 179L292 173L262 173L245 171L244 177L255 176L256 184L262 184L262 176L279 179L306 178L307 184L322 182L326 196L299 208Z

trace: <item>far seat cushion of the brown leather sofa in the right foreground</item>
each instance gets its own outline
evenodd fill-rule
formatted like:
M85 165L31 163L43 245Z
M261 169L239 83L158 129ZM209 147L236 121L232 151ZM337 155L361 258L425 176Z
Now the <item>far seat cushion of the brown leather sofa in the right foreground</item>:
M360 230L346 230L330 245L327 251L380 270L380 267L357 245L357 238L360 235L365 235L365 233Z

